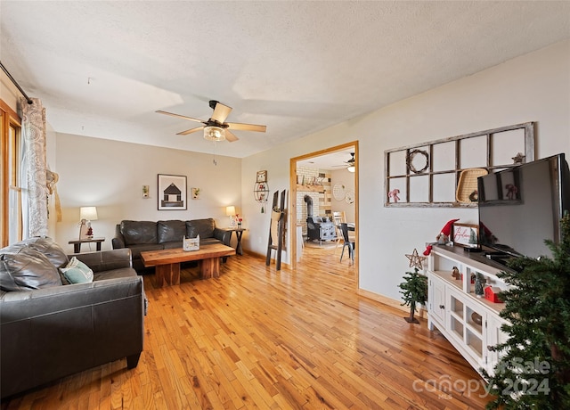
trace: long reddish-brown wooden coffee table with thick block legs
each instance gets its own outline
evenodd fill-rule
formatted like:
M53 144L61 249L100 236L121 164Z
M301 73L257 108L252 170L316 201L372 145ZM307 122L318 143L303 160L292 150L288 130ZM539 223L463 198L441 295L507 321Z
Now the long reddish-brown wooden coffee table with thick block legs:
M180 284L180 263L198 260L201 279L220 275L220 258L235 255L235 250L221 243L200 245L199 250L149 250L141 252L145 267L156 266L155 285Z

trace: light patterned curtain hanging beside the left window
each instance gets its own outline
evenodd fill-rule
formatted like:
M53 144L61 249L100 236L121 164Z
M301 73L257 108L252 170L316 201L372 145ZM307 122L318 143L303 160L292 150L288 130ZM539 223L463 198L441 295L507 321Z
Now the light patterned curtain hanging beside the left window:
M27 176L26 181L22 176L24 237L47 235L45 109L38 98L31 100L33 103L28 104L25 98L20 98L21 132L27 163L26 173L23 174ZM23 189L24 184L28 185L26 190Z

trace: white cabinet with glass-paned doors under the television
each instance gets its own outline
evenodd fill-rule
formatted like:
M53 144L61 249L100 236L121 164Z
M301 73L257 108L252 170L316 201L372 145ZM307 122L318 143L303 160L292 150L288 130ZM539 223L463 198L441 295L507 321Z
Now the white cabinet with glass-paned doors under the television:
M485 256L459 246L433 247L428 258L428 329L442 332L478 373L485 369L493 374L499 356L490 348L508 339L501 331L506 321L499 316L505 304L477 298L471 275L484 275L485 285L507 286L497 277L501 268L476 260L481 258ZM453 266L462 274L460 280L452 277Z

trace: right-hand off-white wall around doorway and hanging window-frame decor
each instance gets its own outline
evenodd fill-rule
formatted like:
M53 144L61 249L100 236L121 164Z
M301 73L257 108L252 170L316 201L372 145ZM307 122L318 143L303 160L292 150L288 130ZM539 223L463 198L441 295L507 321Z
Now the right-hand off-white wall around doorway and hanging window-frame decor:
M449 219L476 223L477 212L379 206L384 202L384 151L536 121L536 158L565 152L570 159L569 73L570 41L565 41L244 159L243 207L256 222L250 226L248 248L265 252L269 223L266 215L256 213L245 190L256 170L268 170L272 192L289 189L289 158L358 140L360 287L401 299L397 285L410 270L405 254L423 251ZM289 262L288 254L283 258Z

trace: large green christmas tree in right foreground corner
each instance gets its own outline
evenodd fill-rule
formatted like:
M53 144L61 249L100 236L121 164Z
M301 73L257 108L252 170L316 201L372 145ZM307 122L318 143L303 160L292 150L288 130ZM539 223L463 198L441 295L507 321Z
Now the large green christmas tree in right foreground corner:
M517 258L514 272L499 276L509 340L494 347L501 360L489 378L489 409L570 408L570 216L560 223L562 241L545 241L552 258ZM486 374L489 377L488 374Z

